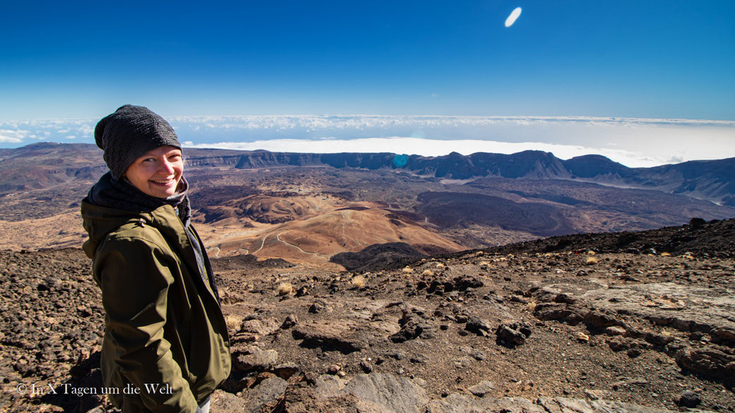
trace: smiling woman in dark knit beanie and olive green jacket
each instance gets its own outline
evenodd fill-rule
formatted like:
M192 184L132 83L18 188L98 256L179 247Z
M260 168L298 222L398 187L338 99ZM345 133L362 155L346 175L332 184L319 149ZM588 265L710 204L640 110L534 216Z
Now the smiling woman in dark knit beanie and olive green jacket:
M181 145L171 125L125 105L96 126L110 168L82 201L106 312L101 370L127 412L207 412L229 376L217 287L190 224Z

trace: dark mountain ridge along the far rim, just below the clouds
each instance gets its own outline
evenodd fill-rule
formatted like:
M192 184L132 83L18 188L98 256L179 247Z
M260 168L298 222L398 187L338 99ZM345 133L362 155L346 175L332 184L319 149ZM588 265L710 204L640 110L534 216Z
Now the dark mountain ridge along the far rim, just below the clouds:
M24 157L49 157L54 153L77 148L88 156L98 153L98 161L101 161L101 151L91 144L34 143L21 148L2 150L0 171L4 169L2 164L10 160L17 162ZM43 154L43 151L48 153ZM598 154L564 160L545 151L521 151L515 154L476 152L469 155L452 152L439 157L390 152L306 154L200 148L184 148L184 153L187 165L201 167L229 166L236 169L255 169L328 165L332 168L368 170L387 168L439 179L474 179L487 176L512 179L564 179L660 190L664 193L688 195L717 204L735 206L735 158L692 160L651 168L628 168ZM79 162L68 166L63 165L67 162L54 163L62 165L46 171L47 176L82 173L81 168L74 168ZM61 169L62 166L65 168ZM7 192L12 189L6 185L0 184L0 191Z

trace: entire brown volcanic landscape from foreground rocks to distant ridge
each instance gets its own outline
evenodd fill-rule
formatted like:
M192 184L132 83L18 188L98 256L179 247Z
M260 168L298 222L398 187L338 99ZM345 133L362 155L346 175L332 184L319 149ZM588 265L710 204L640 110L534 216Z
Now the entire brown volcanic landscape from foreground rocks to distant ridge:
M735 412L727 168L354 155L187 151L232 342L213 412ZM0 150L3 410L112 410L82 394L104 171L93 146Z

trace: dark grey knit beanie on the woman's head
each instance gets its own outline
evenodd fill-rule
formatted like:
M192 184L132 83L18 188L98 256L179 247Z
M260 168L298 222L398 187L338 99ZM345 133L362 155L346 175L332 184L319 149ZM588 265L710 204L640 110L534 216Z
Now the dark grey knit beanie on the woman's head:
M135 159L161 146L181 148L176 132L151 109L126 104L97 123L94 139L104 151L104 162L118 180Z

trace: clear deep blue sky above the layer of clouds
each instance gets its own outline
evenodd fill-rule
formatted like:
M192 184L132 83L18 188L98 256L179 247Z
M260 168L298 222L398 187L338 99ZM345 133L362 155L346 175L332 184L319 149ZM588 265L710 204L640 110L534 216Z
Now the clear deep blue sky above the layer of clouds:
M729 0L1 6L0 145L6 147L30 143L31 135L40 139L38 131L13 129L17 123L11 121L93 123L126 103L166 118L361 114L735 121L735 1ZM523 12L506 28L515 7ZM725 137L735 140L732 128L725 126ZM66 136L90 142L85 130ZM526 141L556 143L563 135L539 130ZM511 139L476 134L445 130L427 137ZM596 134L588 139L597 140L590 148L616 144L609 136L604 142ZM182 140L207 143L196 134Z

